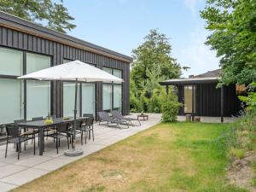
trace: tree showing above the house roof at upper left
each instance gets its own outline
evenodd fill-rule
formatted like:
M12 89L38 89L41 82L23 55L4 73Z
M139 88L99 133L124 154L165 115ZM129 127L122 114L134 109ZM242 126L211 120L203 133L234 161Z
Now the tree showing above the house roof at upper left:
M47 27L66 33L76 26L70 21L74 18L68 14L67 8L51 0L0 0L0 10L33 22L47 23Z

